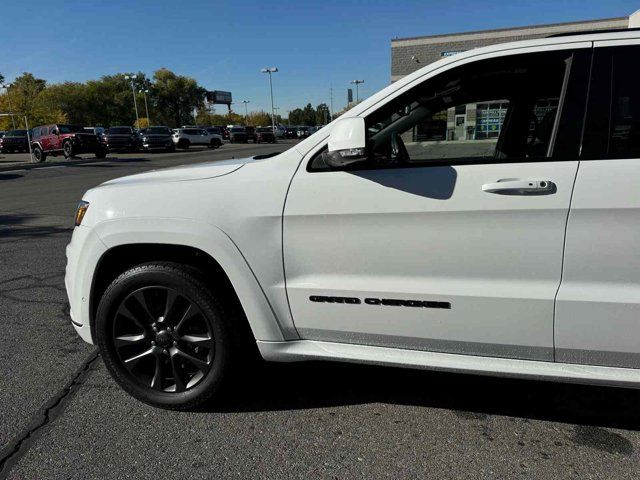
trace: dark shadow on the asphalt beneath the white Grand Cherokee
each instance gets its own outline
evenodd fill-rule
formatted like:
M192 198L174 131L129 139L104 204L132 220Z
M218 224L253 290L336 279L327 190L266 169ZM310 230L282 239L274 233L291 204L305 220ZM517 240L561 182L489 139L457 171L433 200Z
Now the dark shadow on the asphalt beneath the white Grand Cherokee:
M640 391L533 380L308 362L267 364L208 410L273 411L387 403L640 430Z

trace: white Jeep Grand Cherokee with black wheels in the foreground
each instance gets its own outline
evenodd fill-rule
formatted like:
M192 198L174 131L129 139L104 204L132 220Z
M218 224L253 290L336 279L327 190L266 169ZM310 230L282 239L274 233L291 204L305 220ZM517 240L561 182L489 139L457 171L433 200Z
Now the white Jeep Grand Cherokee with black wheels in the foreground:
M639 387L639 59L638 31L472 50L284 153L90 190L73 326L129 393L178 409L250 343Z

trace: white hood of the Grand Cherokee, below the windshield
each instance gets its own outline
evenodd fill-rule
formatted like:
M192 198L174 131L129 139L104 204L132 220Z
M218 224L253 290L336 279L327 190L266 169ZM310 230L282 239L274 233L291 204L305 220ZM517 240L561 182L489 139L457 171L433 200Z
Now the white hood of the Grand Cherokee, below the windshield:
M235 172L243 165L253 161L252 157L233 160L217 160L213 162L182 165L180 167L152 170L151 172L129 175L103 183L101 186L126 186L151 183L185 182L205 178L221 177Z

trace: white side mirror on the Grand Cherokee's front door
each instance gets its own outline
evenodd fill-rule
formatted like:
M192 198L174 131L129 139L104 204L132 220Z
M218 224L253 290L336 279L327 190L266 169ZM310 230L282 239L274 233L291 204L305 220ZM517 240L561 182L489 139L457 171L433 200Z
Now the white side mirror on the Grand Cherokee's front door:
M338 120L329 134L329 146L324 160L330 167L340 168L367 159L367 138L364 118Z

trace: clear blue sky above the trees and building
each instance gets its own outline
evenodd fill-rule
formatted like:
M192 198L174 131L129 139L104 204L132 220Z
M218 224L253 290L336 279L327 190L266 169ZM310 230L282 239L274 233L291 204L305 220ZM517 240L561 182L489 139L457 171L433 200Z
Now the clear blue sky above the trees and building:
M628 16L631 0L2 0L0 73L50 83L161 67L233 94L242 113L346 104L388 85L391 39ZM226 109L222 107L220 110Z

